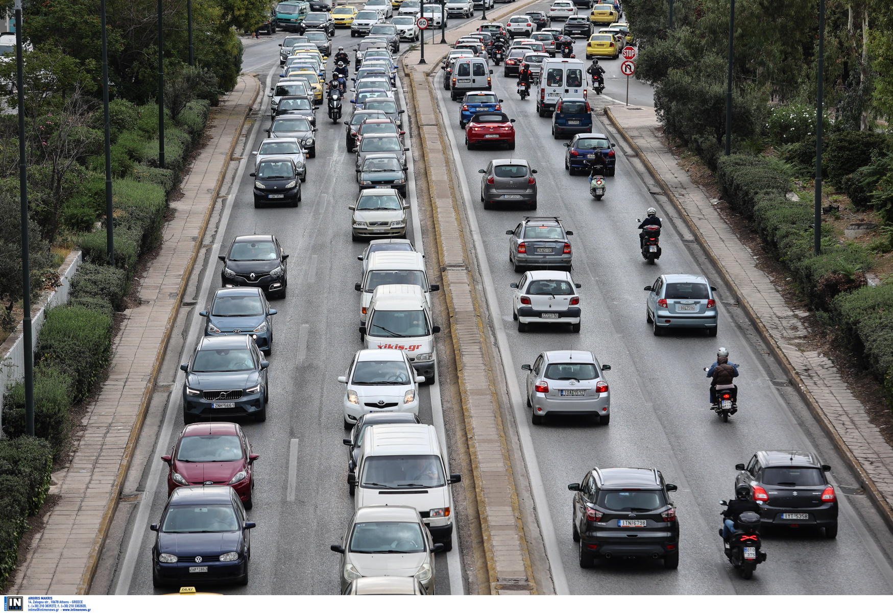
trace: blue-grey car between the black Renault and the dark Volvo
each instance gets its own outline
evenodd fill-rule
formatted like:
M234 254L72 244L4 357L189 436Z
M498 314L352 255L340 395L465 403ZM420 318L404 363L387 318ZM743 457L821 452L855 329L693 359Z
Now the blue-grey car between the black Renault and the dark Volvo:
M222 287L211 299L211 309L198 314L208 318L205 336L250 335L265 355L272 352L276 310L270 308L260 287Z

